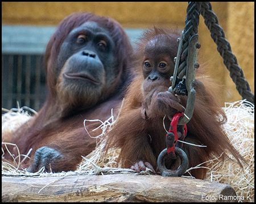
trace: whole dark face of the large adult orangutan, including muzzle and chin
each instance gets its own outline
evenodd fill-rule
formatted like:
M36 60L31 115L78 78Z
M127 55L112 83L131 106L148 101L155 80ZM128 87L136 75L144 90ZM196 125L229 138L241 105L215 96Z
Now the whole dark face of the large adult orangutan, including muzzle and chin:
M116 74L114 49L109 32L95 22L86 22L69 33L57 57L57 88L61 101L71 95L76 101L63 108L79 108L76 104L92 107L98 99L105 99L104 92L111 88Z

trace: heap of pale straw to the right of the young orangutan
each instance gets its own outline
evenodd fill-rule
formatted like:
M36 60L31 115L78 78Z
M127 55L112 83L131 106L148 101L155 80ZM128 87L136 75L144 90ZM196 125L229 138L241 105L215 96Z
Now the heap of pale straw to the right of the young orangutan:
M237 196L250 195L254 202L254 105L242 101L226 103L224 111L228 117L224 131L249 165L241 169L236 162L214 160L210 163L207 180L229 184ZM229 152L227 154L232 158Z

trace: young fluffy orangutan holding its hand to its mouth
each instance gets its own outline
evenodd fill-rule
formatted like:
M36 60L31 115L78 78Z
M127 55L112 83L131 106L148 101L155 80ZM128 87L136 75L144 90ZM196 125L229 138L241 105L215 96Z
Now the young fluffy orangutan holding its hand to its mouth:
M121 148L119 162L123 168L139 173L148 167L155 173L158 156L166 148L163 118L168 116L164 124L169 129L171 121L168 118L185 111L187 96L172 95L167 91L171 86L170 77L174 74L174 57L177 56L177 38L180 36L178 31L154 28L144 33L138 43L134 55L137 75L127 91L118 120L108 133L106 147L106 150L109 147ZM183 144L189 167L206 162L214 155L220 156L226 150L241 164L243 158L221 129L226 121L224 111L199 80L196 80L195 90L195 109L187 124L184 141L207 147ZM178 131L179 136L181 131ZM178 159L166 162L167 169L175 169L179 165ZM205 169L192 170L191 174L203 179Z

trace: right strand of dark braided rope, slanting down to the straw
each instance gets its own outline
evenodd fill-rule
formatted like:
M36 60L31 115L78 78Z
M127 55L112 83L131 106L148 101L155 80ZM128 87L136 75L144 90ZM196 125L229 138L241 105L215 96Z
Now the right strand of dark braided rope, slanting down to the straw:
M254 104L254 95L251 92L249 83L243 75L243 71L238 66L237 58L231 50L231 46L225 38L223 29L218 24L217 16L212 11L210 2L201 2L201 14L204 17L204 23L207 25L210 36L217 45L217 50L224 59L224 65L230 72L230 77L236 84L236 88L242 99L246 99Z

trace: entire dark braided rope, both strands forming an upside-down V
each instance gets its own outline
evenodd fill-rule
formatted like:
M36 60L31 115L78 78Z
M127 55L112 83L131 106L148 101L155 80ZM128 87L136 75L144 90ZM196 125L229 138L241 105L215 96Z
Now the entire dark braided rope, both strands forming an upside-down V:
M236 84L239 94L242 96L242 99L246 99L254 104L254 95L251 92L249 83L245 79L241 67L238 66L237 58L232 53L231 46L228 40L225 38L225 33L218 24L217 16L212 11L212 5L210 2L188 2L185 28L183 31L183 45L181 49L179 67L177 70L177 76L180 78L179 80L181 80L181 78L183 78L183 76L186 74L188 43L189 39L191 39L191 37L197 33L200 14L202 14L204 17L204 22L210 31L210 36L216 43L217 50L223 58L224 65L229 70L230 77ZM177 94L179 94L179 88L182 86L184 86L184 84L181 84L181 86L176 85L175 92Z

